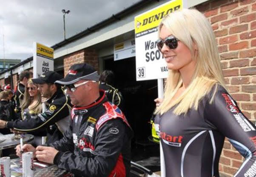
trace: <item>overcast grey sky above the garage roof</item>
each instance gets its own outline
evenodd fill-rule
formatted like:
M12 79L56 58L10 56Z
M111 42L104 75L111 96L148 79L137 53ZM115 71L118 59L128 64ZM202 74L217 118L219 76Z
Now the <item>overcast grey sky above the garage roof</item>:
M0 58L31 57L33 42L52 46L140 0L0 0ZM3 40L4 34L4 40ZM3 41L4 48L3 50Z

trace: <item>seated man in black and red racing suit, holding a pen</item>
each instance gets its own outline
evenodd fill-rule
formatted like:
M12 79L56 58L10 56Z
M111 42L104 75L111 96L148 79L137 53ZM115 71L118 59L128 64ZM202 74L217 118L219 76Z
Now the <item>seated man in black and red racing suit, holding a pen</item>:
M68 130L51 147L25 144L23 151L76 177L128 177L133 133L122 111L99 91L98 81L92 66L71 66L66 77L56 81L64 85L74 105ZM20 156L20 145L16 148Z

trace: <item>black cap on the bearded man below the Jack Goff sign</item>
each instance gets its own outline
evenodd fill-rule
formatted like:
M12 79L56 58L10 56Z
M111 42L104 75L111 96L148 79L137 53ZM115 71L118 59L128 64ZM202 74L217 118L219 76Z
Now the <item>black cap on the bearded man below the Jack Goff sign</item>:
M44 83L54 83L56 80L60 80L63 77L54 71L48 71L41 75L41 77L32 79L33 83L44 84Z

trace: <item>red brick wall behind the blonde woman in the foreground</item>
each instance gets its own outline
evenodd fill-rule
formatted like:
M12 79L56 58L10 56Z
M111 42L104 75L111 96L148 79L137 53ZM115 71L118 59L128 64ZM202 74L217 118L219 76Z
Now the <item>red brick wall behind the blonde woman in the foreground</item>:
M210 0L196 6L208 17L221 55L225 81L239 108L256 119L256 0ZM225 140L222 177L233 177L244 158Z

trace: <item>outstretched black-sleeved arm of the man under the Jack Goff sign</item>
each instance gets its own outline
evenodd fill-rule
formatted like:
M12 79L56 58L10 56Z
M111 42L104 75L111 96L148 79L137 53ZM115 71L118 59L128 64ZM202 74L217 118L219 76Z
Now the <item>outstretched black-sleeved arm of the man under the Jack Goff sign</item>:
M60 119L69 115L68 99L56 99L52 102L44 113L37 114L34 119L25 119L23 121L10 121L6 124L7 128L22 132L33 132L46 128L47 126L58 122ZM0 128L3 122L0 122Z

